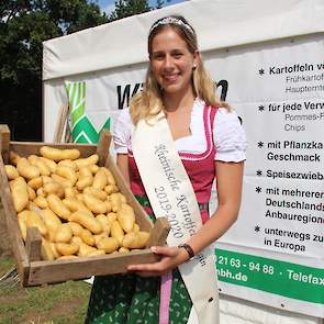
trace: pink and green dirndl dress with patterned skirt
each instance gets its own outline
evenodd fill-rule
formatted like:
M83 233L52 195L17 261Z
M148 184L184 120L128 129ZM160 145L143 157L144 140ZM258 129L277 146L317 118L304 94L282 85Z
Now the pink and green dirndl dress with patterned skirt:
M179 152L182 164L193 186L201 210L202 222L209 219L208 202L214 180L213 121L216 109L204 107L204 135L206 149L201 154ZM131 189L138 202L155 221L145 195L144 186L132 152L129 152ZM135 273L96 277L86 317L87 324L187 324L192 302L178 269L171 278L169 297L160 293L160 277L143 278ZM167 320L160 310L168 299ZM163 319L164 317L164 319Z

